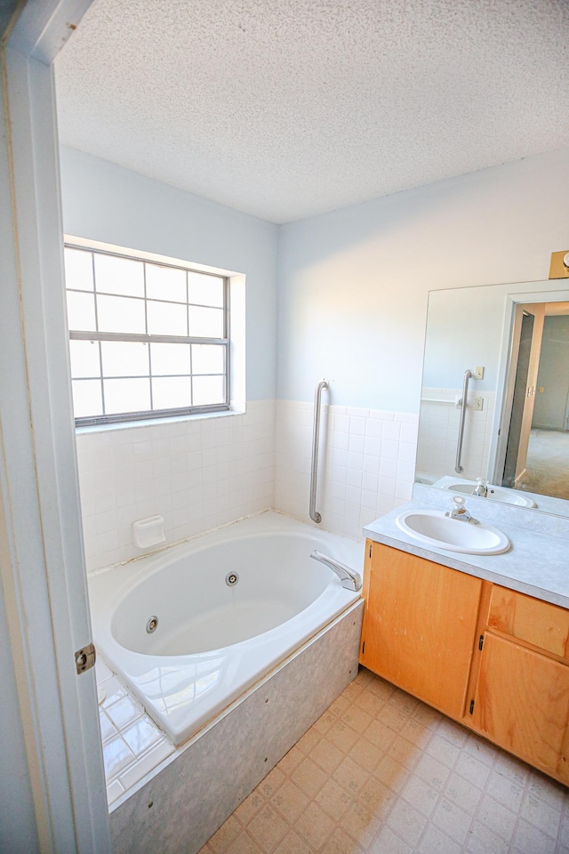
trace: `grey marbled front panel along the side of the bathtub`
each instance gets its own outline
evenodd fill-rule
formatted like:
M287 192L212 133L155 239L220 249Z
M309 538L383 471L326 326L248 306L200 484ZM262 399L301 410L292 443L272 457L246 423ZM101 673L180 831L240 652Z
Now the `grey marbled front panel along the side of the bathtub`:
M354 679L362 610L360 600L119 796L113 850L196 854Z

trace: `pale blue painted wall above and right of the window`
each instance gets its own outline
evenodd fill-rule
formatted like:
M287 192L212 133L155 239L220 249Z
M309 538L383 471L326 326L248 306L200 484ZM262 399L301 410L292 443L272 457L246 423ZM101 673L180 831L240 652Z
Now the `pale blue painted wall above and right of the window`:
M276 397L278 226L76 149L60 165L66 234L245 273L246 395Z

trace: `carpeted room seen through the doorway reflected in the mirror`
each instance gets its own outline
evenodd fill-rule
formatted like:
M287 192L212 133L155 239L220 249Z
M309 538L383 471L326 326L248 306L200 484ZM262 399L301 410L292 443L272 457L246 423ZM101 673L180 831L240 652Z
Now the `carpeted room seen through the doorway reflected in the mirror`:
M543 308L537 375L534 384L526 382L520 392L524 395L525 391L525 401L530 404L531 429L527 445L519 448L513 480L511 462L517 448L512 440L515 431L510 429L512 457L506 458L504 484L508 481L528 492L569 499L569 303L543 303ZM524 372L523 351L520 346L518 375L520 367ZM514 422L512 412L512 427Z

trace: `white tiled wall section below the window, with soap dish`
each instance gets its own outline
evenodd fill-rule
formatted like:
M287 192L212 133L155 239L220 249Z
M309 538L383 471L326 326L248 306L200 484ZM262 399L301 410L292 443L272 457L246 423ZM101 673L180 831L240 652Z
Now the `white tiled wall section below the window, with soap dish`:
M273 506L275 405L244 414L77 433L88 569L140 556L132 522L164 516L166 544Z

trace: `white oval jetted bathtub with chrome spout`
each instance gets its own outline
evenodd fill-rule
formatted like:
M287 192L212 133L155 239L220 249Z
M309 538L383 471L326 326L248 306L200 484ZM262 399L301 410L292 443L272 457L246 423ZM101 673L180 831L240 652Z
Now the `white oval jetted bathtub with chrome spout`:
M314 549L362 572L363 544L265 512L89 577L97 649L175 745L360 598Z

